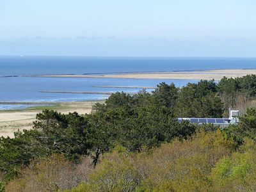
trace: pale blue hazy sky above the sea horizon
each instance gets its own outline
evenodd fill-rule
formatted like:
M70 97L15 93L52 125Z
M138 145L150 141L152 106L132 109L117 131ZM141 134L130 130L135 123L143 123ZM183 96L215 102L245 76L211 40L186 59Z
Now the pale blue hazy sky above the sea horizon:
M253 0L0 0L0 55L255 57Z

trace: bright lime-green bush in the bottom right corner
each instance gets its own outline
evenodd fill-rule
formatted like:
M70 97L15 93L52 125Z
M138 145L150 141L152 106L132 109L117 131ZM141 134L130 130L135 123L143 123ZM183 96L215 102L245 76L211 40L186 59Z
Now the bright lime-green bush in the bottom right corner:
M255 168L255 150L223 157L212 169L214 191L255 191Z

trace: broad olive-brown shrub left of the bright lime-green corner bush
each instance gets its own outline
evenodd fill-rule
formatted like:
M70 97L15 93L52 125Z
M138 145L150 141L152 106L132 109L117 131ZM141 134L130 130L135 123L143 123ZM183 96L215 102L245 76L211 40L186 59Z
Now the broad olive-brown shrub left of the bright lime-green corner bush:
M136 159L145 191L206 191L211 169L234 151L234 143L220 130L199 132L189 140L163 144L152 155ZM171 190L172 189L172 190Z

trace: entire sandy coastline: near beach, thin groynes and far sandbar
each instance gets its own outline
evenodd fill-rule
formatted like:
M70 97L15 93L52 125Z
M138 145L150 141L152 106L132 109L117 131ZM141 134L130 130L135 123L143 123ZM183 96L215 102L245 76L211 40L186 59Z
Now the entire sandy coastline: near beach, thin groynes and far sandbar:
M138 72L129 74L98 74L98 75L42 75L31 77L66 77L66 78L112 78L112 79L184 79L184 80L220 80L226 77L241 77L248 74L256 74L256 69L236 69L236 70L193 70L176 72ZM99 88L153 88L142 86L95 86ZM104 94L110 95L112 92L62 92L56 90L41 91L45 93L83 93L83 94ZM42 109L53 109L61 113L77 111L77 113L90 113L93 104L102 102L95 101L77 101L77 102L0 102L0 104L28 104L31 108L3 110L0 111L0 136L13 137L13 132L22 129L31 129L36 114L42 112ZM34 106L32 106L34 105ZM37 106L36 106L37 105ZM44 105L44 106L40 106Z

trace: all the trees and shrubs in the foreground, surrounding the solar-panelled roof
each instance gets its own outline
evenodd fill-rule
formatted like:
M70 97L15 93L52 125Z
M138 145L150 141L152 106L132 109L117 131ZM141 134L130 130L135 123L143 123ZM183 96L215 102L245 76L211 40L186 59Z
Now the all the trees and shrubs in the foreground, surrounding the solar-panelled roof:
M0 140L0 191L254 191L256 76L115 93L91 114L44 110ZM227 116L239 125L177 122ZM103 155L102 155L103 154Z

